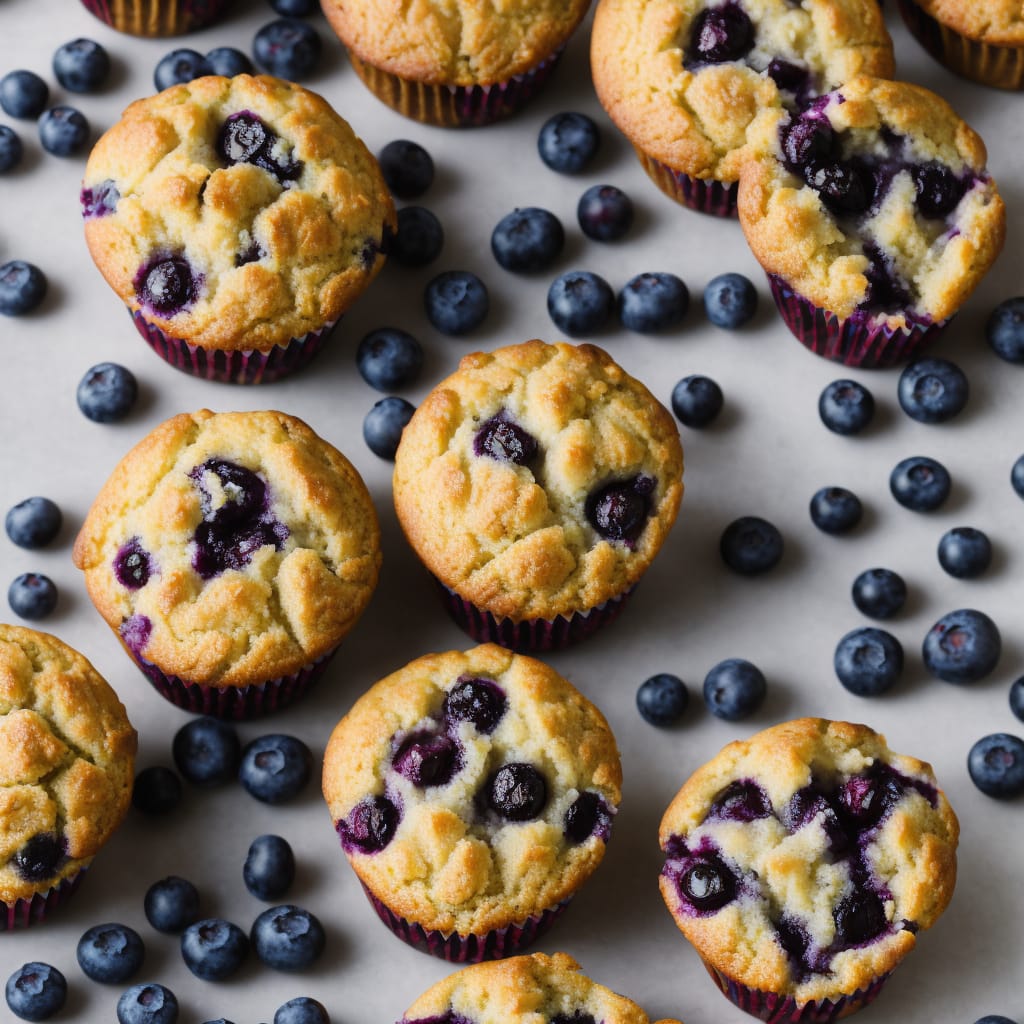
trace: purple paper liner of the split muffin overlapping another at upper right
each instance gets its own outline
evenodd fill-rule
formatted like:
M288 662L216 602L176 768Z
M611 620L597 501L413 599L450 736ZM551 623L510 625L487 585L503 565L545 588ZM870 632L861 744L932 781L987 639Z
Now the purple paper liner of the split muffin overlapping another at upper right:
M895 329L857 313L841 319L798 295L778 274L769 273L768 285L785 326L805 348L861 370L906 362L931 344L951 319L912 319L909 328Z

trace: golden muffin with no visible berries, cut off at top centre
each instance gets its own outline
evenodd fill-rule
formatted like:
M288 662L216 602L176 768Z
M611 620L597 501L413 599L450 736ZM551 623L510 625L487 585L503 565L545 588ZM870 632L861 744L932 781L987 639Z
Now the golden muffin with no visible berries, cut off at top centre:
M406 117L490 124L540 89L590 0L321 0L359 78Z

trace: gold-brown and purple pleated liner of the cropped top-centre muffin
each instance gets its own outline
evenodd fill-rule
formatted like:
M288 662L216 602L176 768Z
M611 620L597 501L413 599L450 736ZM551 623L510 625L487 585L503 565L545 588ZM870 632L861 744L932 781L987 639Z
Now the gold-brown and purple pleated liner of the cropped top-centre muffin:
M559 48L507 82L464 86L399 78L348 53L355 73L378 99L407 118L439 128L480 128L517 113L544 85L561 55Z

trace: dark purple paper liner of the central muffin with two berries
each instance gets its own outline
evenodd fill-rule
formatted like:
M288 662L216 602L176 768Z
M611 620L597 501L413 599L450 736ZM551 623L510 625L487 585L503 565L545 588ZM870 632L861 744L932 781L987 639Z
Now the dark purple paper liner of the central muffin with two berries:
M444 606L456 623L477 643L497 643L519 653L562 650L586 640L599 629L614 622L622 613L636 587L609 597L607 601L587 611L575 611L567 618L556 615L549 618L497 618L489 611L478 608L471 601L460 597L434 578Z

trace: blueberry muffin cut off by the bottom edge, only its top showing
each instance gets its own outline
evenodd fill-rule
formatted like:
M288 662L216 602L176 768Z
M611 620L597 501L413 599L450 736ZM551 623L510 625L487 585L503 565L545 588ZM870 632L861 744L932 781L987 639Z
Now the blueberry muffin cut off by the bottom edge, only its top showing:
M632 999L591 981L571 956L532 953L456 971L428 988L397 1024L648 1024L649 1020Z

